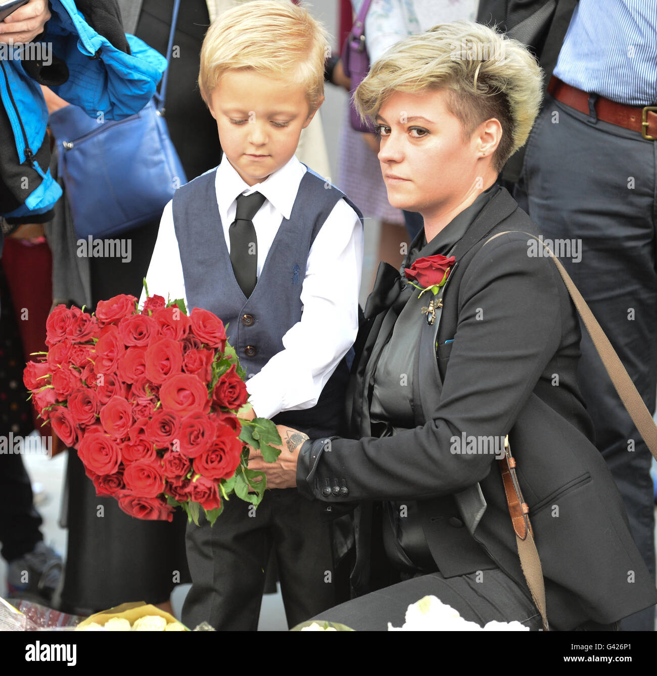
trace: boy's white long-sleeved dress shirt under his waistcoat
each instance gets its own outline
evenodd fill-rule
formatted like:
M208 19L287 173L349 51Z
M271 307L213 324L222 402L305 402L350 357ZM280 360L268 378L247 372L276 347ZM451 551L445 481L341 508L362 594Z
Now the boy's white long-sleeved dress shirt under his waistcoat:
M214 185L229 252L229 227L235 220L237 196L257 191L267 198L253 218L258 238L258 276L281 221L290 218L305 172L306 167L292 157L262 183L249 187L225 155L217 168ZM258 416L272 418L281 411L317 404L324 385L356 339L362 267L363 228L356 212L340 199L309 251L301 289L304 309L300 321L283 336L284 349L246 383L249 401ZM162 214L146 283L151 295L183 298L187 306L171 202ZM140 304L144 300L145 292ZM275 303L277 299L271 301Z

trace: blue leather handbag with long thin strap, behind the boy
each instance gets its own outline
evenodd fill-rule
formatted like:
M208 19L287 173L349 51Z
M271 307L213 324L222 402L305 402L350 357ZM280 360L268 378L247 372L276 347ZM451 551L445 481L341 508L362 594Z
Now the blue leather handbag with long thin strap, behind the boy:
M176 189L187 183L164 120L179 7L175 0L160 93L142 110L112 122L90 118L74 105L50 116L78 237L110 237L160 218Z

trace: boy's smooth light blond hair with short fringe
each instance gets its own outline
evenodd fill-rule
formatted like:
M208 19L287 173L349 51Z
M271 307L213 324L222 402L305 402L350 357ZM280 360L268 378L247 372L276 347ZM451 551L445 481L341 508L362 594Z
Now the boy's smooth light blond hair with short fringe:
M324 93L327 32L291 0L256 0L225 11L212 23L201 48L198 85L210 105L228 70L254 70L302 84L310 112Z

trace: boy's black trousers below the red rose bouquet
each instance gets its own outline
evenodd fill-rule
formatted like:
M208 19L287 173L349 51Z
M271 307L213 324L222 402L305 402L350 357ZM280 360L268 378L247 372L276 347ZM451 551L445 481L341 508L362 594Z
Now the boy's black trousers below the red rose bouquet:
M255 510L233 496L214 526L187 527L191 589L182 621L217 631L256 631L273 548L288 625L336 603L331 525L322 504L296 488L266 491Z

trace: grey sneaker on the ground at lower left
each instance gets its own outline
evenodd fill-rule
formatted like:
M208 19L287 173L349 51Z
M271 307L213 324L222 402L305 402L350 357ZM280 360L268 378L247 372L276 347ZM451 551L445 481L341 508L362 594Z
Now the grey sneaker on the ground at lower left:
M7 598L49 603L63 570L62 557L43 541L37 542L31 552L9 563Z

